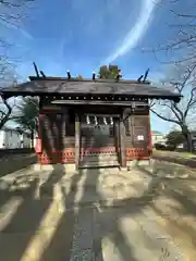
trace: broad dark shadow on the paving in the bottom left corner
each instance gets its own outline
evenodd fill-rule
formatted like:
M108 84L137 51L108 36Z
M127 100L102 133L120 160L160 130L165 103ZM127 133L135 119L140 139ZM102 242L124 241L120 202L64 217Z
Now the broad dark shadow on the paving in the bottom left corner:
M38 179L28 183L27 188L1 191L0 252L2 260L22 260L25 249L35 236L49 202L40 206L35 199Z

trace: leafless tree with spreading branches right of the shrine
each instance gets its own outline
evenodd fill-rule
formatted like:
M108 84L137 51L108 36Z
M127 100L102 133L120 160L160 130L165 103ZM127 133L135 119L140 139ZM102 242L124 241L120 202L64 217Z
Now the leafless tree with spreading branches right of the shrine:
M173 65L173 76L166 80L169 88L183 96L174 101L151 101L150 111L163 121L176 124L192 150L191 128L196 120L196 64L177 63Z

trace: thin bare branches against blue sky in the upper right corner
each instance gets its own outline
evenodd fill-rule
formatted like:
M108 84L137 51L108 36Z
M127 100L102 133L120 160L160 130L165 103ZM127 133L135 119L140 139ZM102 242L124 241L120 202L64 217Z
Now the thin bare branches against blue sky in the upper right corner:
M159 3L166 8L164 2ZM196 3L194 1L169 0L168 12L173 15L173 24L169 24L172 30L172 38L167 42L159 44L154 48L154 53L158 57L160 51L167 54L175 53L175 61L196 62ZM183 10L183 11L182 11ZM183 54L182 54L183 53ZM177 55L177 59L176 59ZM182 57L183 55L183 57ZM166 62L166 61L164 61ZM168 61L167 61L168 62Z

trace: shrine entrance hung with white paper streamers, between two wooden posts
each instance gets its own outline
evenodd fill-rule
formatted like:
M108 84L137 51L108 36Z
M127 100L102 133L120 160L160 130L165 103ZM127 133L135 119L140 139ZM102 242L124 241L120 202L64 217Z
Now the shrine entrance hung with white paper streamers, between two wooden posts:
M79 166L119 165L119 117L84 114L81 117Z

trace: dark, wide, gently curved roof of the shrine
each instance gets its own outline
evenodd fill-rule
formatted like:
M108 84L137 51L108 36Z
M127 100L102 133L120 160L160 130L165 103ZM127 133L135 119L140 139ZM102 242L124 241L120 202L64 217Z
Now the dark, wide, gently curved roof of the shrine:
M15 87L1 90L4 95L123 95L123 96L145 96L152 98L180 98L177 94L163 88L157 88L149 84L139 84L128 80L89 80L89 79L66 79L46 78L35 79L20 84Z

